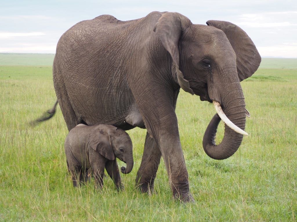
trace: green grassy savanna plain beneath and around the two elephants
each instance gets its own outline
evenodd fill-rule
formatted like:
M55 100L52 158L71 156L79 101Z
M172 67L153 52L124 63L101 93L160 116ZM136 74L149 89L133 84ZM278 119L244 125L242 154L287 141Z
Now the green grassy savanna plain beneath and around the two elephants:
M176 113L195 199L189 204L172 200L162 160L155 193L135 189L146 134L138 128L127 131L135 167L121 174L125 191L116 192L110 178L102 191L94 181L73 189L61 110L28 126L56 100L50 59L0 54L0 221L296 221L297 59L263 59L241 83L249 136L227 160L213 160L202 148L213 106L181 91ZM222 136L221 123L217 141Z

